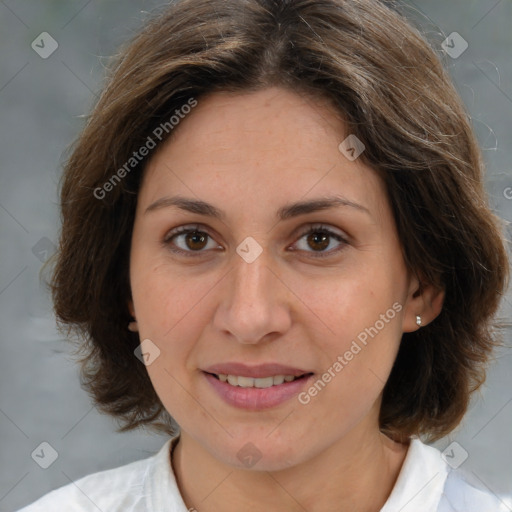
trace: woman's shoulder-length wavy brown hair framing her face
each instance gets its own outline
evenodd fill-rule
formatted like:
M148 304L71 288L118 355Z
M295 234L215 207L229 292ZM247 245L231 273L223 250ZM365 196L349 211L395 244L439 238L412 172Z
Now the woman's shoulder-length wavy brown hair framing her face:
M134 356L138 335L127 330L131 232L146 161L101 199L95 191L190 98L276 85L332 102L364 142L361 158L385 181L406 264L445 290L440 315L403 335L380 412L390 437L440 438L485 379L508 262L481 154L441 60L378 0L173 1L124 49L61 189L52 290L61 327L79 335L82 385L120 431L175 432Z

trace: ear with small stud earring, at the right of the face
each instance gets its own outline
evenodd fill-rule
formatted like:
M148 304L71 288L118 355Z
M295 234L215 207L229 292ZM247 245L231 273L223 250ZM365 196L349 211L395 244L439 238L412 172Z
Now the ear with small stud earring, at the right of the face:
M441 313L445 292L434 284L425 284L418 277L411 277L404 314L402 316L403 332L413 332L425 327ZM421 317L421 325L416 317Z

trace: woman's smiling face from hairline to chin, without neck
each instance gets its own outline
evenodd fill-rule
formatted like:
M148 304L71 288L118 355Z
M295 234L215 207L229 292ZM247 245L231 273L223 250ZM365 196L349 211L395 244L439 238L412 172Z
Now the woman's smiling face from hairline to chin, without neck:
M421 314L381 179L338 148L332 108L283 89L201 98L178 128L146 168L130 263L165 408L238 467L376 432Z

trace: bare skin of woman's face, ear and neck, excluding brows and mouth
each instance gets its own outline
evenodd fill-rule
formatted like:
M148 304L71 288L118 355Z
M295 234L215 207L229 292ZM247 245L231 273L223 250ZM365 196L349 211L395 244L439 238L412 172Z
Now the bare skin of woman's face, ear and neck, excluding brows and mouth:
M338 149L347 135L318 99L280 88L214 93L200 98L145 170L129 307L140 339L160 350L147 371L181 427L173 469L186 505L200 512L375 512L399 474L408 446L379 431L382 390L402 333L418 329L416 315L432 321L443 294L419 291L381 178ZM211 203L225 218L176 206L146 211L173 195ZM368 211L276 216L286 204L333 195ZM330 236L319 248L304 235L319 223L347 242ZM196 224L209 235L202 244L187 244L186 235L164 243L174 228ZM250 264L236 252L248 236L263 249ZM401 311L307 405L292 398L241 410L200 371L279 362L318 378L397 302ZM249 442L261 453L251 468L237 458Z

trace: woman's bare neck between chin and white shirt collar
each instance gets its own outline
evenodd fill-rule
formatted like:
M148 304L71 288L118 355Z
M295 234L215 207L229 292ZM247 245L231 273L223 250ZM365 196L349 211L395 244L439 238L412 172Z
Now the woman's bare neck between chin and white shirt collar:
M351 432L313 459L268 472L225 465L182 432L172 464L187 507L201 512L320 512L333 503L338 511L378 512L407 448L378 430Z

